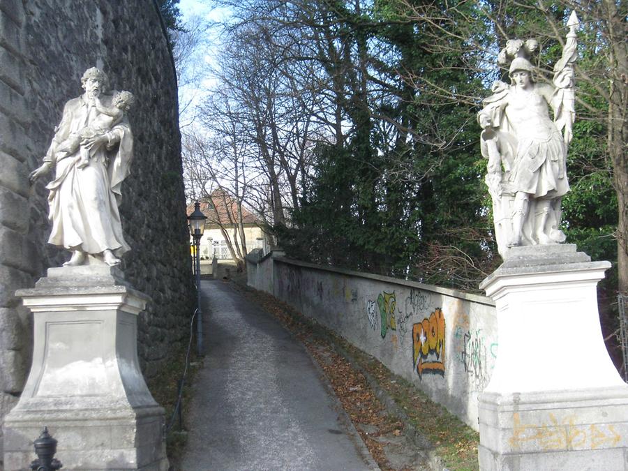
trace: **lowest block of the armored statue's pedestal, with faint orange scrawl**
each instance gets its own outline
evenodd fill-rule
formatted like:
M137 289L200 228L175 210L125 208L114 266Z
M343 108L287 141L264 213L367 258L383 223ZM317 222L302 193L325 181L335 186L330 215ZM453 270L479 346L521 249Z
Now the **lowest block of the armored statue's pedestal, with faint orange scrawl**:
M479 398L481 470L628 469L628 386Z

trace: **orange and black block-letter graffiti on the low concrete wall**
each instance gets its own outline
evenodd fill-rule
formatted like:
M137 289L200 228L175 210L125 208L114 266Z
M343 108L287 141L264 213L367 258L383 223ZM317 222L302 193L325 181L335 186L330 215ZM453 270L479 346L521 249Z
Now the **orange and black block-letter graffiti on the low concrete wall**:
M412 361L419 378L431 373L444 375L445 320L441 308L412 326Z

